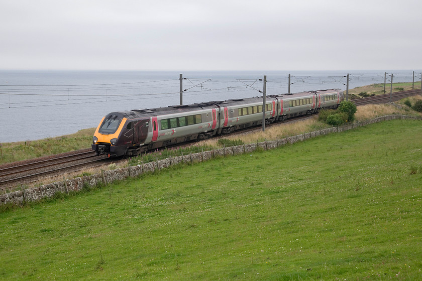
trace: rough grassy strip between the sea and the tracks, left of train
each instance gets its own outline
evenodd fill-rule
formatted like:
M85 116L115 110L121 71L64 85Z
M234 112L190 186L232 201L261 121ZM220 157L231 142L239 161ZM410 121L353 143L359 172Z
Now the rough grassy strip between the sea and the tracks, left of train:
M90 149L94 131L95 128L82 129L73 134L48 137L38 141L0 144L0 164Z

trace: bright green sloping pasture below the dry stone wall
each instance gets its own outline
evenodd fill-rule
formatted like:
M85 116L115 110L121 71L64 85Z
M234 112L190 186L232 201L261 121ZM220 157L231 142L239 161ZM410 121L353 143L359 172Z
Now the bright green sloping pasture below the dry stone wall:
M0 213L0 278L422 278L420 121L179 166Z

